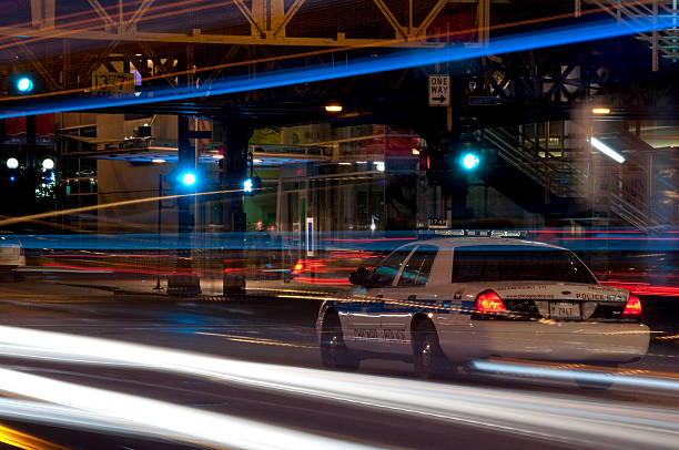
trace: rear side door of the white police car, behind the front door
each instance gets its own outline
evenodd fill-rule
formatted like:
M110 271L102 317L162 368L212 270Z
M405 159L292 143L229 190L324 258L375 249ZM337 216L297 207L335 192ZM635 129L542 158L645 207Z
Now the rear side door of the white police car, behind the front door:
M412 354L409 324L418 311L428 313L438 300L427 290L434 259L438 254L435 245L419 245L402 268L396 288L389 293L381 327L389 352ZM432 309L434 310L434 309Z

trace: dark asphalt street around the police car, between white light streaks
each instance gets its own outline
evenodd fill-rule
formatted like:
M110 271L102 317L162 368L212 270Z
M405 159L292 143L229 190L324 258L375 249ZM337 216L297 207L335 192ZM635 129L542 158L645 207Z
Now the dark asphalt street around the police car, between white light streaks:
M318 299L239 301L170 299L162 296L114 295L83 287L78 280L29 277L0 284L2 325L105 338L115 341L186 350L237 360L321 368L313 321ZM65 283L65 284L64 284ZM679 374L679 354L655 341L649 356L630 368ZM582 442L550 440L539 434L510 432L479 423L463 423L430 416L407 415L384 408L334 402L327 399L159 371L153 368L107 367L32 360L3 355L2 367L77 385L163 400L211 412L236 416L294 430L386 448L578 448ZM368 360L359 374L413 379L403 362ZM549 383L536 378L457 374L439 382L447 386L530 392L563 400L606 401L620 406L671 408L677 398L641 390L580 389L572 383ZM16 427L67 448L195 448L148 437L74 431L68 427L8 420ZM199 448L201 446L197 446ZM596 446L595 446L596 447Z

